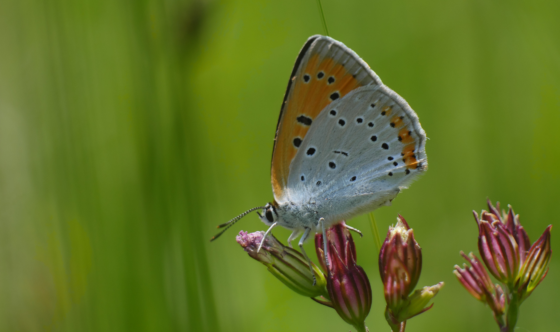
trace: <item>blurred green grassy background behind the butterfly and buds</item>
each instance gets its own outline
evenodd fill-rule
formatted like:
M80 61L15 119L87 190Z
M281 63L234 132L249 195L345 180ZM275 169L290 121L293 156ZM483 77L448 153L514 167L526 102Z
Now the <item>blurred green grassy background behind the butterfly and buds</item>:
M497 331L451 273L472 209L512 204L535 241L558 224L560 2L329 1L333 38L417 111L430 169L393 206L445 281L407 331ZM272 200L288 76L322 33L315 0L0 1L0 330L348 331L215 225ZM365 216L348 221L388 331ZM288 231L275 230L279 239ZM560 326L560 258L520 331ZM307 252L312 251L312 244Z

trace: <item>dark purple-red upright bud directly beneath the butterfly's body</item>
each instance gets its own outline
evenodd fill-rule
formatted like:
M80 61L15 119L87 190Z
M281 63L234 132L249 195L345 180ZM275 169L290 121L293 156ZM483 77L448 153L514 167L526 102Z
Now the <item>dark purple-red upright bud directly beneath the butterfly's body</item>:
M356 247L344 222L326 230L328 268L327 289L338 315L358 331L365 331L371 308L371 286L366 272L356 264ZM315 236L319 261L324 262L323 235Z

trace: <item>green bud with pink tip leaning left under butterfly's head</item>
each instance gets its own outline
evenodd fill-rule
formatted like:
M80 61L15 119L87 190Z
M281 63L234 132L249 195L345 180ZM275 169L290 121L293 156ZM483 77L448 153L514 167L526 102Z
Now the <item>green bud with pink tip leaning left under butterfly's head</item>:
M249 256L266 265L270 273L290 287L292 291L311 298L316 296L329 298L323 272L311 263L317 280L313 286L313 275L301 252L284 246L272 234L264 239L263 247L256 252L260 242L263 241L263 236L263 231L254 233L241 231L236 236L236 240Z

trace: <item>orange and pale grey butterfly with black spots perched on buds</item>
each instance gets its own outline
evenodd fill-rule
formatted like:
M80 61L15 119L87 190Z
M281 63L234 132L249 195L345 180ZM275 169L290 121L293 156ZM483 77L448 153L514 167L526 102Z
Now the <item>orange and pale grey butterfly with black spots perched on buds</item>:
M297 56L272 151L274 200L262 210L269 226L315 231L390 205L427 169L426 133L418 116L356 53L329 36L307 39ZM324 237L326 238L326 237ZM260 249L260 247L259 247ZM325 241L326 252L326 241ZM311 270L312 271L312 270Z

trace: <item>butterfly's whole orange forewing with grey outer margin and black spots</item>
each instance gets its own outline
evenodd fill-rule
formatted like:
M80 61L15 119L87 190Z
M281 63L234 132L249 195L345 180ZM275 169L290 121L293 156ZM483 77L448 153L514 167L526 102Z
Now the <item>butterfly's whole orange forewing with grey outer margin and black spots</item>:
M285 197L290 164L321 110L366 85L382 83L351 49L328 36L307 40L296 59L278 119L271 167L276 200Z

